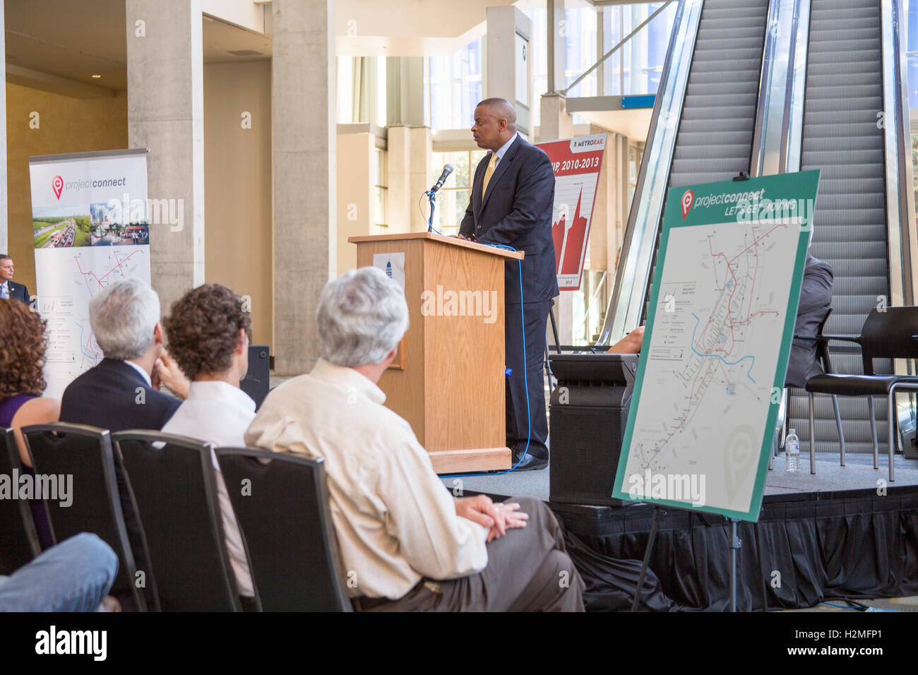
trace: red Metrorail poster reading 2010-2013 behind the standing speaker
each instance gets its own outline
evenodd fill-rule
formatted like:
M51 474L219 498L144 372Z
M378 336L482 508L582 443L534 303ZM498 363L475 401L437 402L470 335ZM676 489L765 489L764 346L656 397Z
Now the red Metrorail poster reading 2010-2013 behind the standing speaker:
M596 201L606 134L549 141L538 146L554 168L554 264L561 290L577 290L587 257L589 222Z

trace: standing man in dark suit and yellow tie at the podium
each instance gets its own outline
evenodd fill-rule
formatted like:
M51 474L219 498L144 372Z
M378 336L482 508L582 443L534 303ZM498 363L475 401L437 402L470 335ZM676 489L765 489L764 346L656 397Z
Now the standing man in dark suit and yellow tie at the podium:
M478 147L491 152L476 168L459 236L525 253L521 263L506 264L504 275L506 358L511 370L507 444L517 470L544 468L545 322L552 298L558 295L552 240L554 171L548 155L517 134L516 111L503 98L478 104L472 135Z

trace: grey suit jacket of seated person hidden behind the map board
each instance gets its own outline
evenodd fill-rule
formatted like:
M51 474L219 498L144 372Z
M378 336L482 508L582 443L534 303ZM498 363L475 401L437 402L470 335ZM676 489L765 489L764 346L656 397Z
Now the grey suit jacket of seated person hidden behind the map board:
M832 307L832 265L807 254L803 268L803 283L800 285L800 305L797 308L795 335L815 335L819 324ZM814 375L823 372L816 359L816 343L812 340L794 340L790 347L788 387L803 387Z

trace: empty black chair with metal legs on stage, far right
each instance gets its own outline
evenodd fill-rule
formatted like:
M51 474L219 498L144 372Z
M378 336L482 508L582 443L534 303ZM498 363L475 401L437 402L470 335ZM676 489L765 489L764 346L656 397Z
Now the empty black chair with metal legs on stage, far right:
M896 391L918 391L918 377L907 375L875 375L873 360L876 358L918 357L918 307L888 307L873 309L861 328L860 335L825 335L820 338L821 348L830 340L856 343L860 346L864 375L835 375L827 373L811 377L806 383L810 394L810 473L816 473L813 420L813 395L833 394L836 396L866 396L870 413L870 433L873 440L873 467L879 468L879 443L877 440L877 418L874 414L873 397L885 396L889 423L890 482L895 480L893 455L896 444Z

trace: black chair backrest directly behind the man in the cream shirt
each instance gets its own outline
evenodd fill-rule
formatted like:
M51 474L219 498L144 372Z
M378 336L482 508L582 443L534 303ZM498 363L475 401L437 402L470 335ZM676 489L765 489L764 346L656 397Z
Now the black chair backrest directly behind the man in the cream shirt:
M324 462L252 448L216 453L263 610L351 612Z

